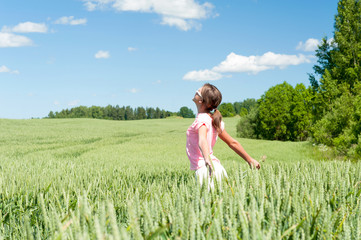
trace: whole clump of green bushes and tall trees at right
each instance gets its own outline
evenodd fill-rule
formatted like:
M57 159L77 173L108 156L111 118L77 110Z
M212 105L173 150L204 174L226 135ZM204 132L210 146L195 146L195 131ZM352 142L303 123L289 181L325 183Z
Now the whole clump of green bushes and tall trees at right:
M316 50L310 86L271 87L237 126L240 137L306 140L361 157L361 1L340 0L334 36Z

